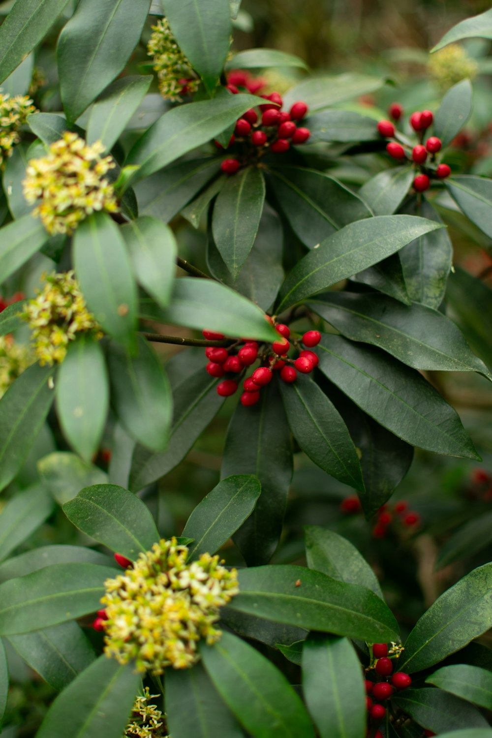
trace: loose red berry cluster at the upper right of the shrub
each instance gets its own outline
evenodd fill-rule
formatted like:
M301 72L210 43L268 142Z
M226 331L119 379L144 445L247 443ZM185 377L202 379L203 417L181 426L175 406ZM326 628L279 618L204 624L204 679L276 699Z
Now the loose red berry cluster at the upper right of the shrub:
M397 122L403 115L403 108L400 103L392 103L389 106L388 112L389 116ZM425 131L432 125L433 121L434 115L430 110L412 113L410 116L410 125L417 134L419 143L412 148L412 152L409 151L408 146L405 148L398 141L390 141L386 147L389 156L392 156L393 159L397 159L398 161L409 159L420 168L420 174L417 174L413 181L413 187L416 192L429 190L431 186L430 178L432 176L437 177L437 179L446 179L451 174L451 168L447 164L437 164L435 166L435 156L443 146L441 140L437 136L431 136L426 140L425 145L423 145ZM380 120L378 131L385 138L395 138L396 136L395 124L390 120ZM424 166L429 154L431 165Z

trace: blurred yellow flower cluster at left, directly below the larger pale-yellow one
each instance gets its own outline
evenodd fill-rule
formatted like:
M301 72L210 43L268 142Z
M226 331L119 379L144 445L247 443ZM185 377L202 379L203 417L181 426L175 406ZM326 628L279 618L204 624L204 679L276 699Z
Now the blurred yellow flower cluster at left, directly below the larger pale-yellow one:
M44 289L29 300L21 317L32 328L31 339L41 365L63 362L67 345L77 333L91 331L95 338L103 337L72 269L46 277Z

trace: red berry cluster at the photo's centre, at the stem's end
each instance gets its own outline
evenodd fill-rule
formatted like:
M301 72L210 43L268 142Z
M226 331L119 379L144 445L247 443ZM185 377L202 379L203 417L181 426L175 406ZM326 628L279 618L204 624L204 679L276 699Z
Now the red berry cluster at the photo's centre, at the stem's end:
M260 359L261 366L254 370L251 376L243 380L243 394L240 401L246 407L255 405L260 399L260 390L266 384L270 384L274 371L278 371L283 382L291 384L297 379L297 372L308 374L319 364L319 357L309 349L318 345L321 340L319 331L307 331L300 339L294 339L292 344L297 348L302 343L307 348L299 352L297 359L288 358L291 349L291 330L283 323L276 324L269 315L266 316L271 325L274 325L279 337L271 345L259 345L256 341L239 339L229 348L215 348L209 346L205 349L205 356L209 359L207 372L210 376L222 377L226 374L239 374L238 380L224 379L217 385L217 393L221 397L229 397L238 389L239 382L243 379L248 367ZM221 340L221 333L203 331L204 337L209 340ZM242 344L242 345L241 345ZM240 348L239 348L240 347ZM237 354L232 353L238 349ZM272 353L273 351L273 353Z

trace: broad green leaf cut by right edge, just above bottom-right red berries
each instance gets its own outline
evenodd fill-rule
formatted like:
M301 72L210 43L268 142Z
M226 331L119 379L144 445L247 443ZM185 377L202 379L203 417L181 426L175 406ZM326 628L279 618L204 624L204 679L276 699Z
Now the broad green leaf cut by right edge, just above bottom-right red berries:
M406 639L399 667L420 672L443 661L492 627L492 564L474 569L446 590Z

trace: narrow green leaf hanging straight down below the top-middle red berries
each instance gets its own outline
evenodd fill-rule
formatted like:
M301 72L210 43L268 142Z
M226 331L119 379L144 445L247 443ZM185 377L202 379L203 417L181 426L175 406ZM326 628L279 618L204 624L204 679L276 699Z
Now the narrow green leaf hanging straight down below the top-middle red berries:
M231 180L215 200L212 233L229 272L238 277L260 225L265 179L257 167L246 167Z

